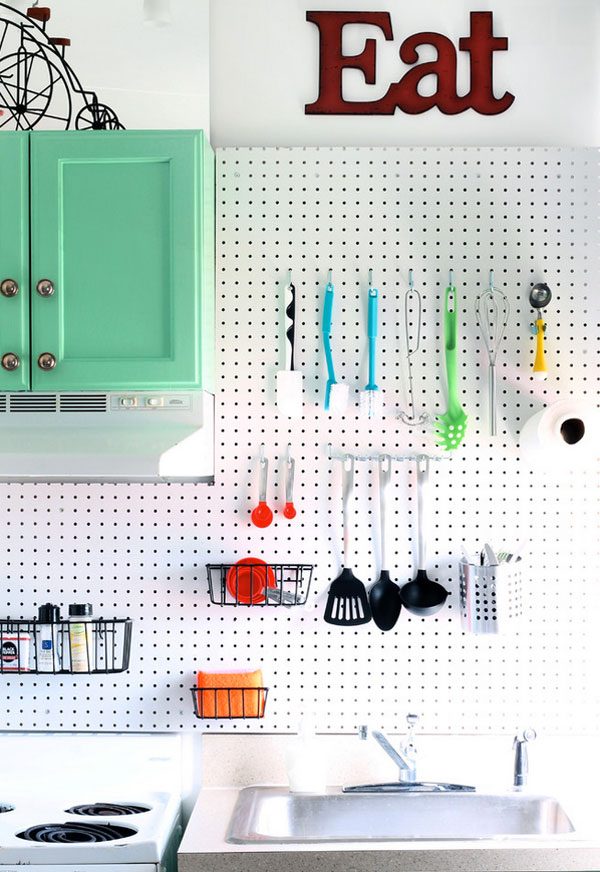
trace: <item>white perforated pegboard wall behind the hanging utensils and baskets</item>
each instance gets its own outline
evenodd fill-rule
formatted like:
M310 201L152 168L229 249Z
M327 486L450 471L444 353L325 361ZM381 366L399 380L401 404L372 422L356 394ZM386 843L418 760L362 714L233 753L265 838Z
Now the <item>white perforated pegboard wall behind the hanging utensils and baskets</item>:
M114 677L2 678L6 728L295 730L317 711L319 729L370 722L403 730L501 732L533 723L544 732L600 727L596 680L600 595L598 468L557 479L523 467L516 436L558 396L598 396L598 153L568 149L225 149L218 153L219 324L217 483L5 485L6 614L29 617L46 600L90 601L97 615L135 620L132 663ZM280 418L275 372L284 361L283 284L298 291L300 421ZM433 450L431 434L396 417L406 407L403 356L408 269L423 296L421 350L413 358L418 407L443 411L441 300L452 267L461 297L460 372L469 414L466 444L432 464L430 574L451 590L435 618L403 613L390 633L323 621L340 567L339 463L349 451ZM320 323L328 269L336 302L338 379L366 382L369 268L380 289L381 421L353 407L322 409L326 380ZM474 314L489 269L512 317L498 361L499 433L487 433L487 368ZM527 292L547 281L547 383L531 379L533 320ZM354 396L357 396L354 394ZM257 530L258 448L272 461L275 522ZM285 453L296 459L297 518L283 508ZM412 577L414 473L393 476L394 573ZM378 570L377 485L358 464L355 570ZM525 582L530 620L497 638L460 629L456 555L461 541L514 544L533 531ZM253 555L315 563L304 608L224 608L209 603L205 565ZM594 569L591 569L591 568ZM189 686L198 668L261 665L270 696L263 721L195 721Z

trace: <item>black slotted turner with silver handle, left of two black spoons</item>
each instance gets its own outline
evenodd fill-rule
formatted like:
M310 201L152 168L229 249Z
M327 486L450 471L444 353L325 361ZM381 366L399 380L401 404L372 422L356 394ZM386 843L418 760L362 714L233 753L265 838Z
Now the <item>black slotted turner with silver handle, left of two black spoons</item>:
M338 577L331 582L325 620L338 627L356 627L368 624L371 608L367 591L362 581L350 569L350 525L353 518L350 508L354 490L354 458L348 457L342 466L342 505L344 510L344 566Z

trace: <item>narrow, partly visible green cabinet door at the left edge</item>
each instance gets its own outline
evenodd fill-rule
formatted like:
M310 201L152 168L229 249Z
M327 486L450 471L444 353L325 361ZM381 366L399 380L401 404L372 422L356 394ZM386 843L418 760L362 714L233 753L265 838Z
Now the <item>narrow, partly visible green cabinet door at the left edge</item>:
M14 296L0 294L0 360L19 358L13 370L0 366L0 391L29 388L29 138L0 133L0 284L12 279Z

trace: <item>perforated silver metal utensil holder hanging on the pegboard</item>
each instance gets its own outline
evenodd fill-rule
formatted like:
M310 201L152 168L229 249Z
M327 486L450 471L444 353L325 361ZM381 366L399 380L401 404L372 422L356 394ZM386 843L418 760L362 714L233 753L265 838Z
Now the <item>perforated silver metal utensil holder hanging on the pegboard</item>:
M465 633L506 632L523 614L522 563L479 566L461 560L460 612Z

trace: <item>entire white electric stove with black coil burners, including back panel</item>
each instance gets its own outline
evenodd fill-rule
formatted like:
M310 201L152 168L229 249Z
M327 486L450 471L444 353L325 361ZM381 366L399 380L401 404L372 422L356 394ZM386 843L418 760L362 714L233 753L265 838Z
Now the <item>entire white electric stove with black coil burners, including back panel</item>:
M180 737L132 734L0 735L0 872L155 872L170 869L181 818ZM102 804L99 816L76 814ZM118 814L110 804L147 807ZM52 841L19 837L32 827L69 825ZM91 841L89 828L106 841ZM117 828L111 831L110 828Z

